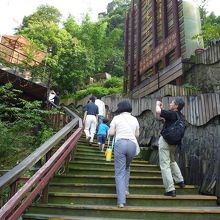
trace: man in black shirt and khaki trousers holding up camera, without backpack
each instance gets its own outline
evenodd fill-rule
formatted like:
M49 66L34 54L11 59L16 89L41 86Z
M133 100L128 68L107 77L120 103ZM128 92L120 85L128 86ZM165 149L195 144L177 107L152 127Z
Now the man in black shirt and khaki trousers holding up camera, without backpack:
M184 105L185 103L181 98L176 98L170 103L170 109L164 110L162 102L156 102L156 113L160 114L160 117L165 120L162 130L169 127L178 119L176 113L178 113L180 117L183 117L180 111L182 110ZM168 144L162 135L159 138L158 144L160 169L166 191L164 195L175 197L176 190L174 186L174 181L181 188L185 187L182 173L178 164L175 161L176 145Z

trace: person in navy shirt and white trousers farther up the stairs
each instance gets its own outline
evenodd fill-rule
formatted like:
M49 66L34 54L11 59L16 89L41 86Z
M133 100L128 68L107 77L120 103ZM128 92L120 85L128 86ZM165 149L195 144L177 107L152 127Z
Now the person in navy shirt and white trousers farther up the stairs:
M95 97L90 98L90 102L85 107L83 124L86 139L90 144L93 143L94 135L96 133L96 126L98 121L98 106L95 104Z

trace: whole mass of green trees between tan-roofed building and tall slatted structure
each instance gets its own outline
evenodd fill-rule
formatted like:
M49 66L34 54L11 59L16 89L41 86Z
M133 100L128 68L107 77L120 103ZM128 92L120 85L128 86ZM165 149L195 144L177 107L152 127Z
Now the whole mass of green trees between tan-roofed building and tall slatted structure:
M100 72L121 77L124 18L129 3L130 0L113 0L97 22L92 22L89 15L81 24L72 16L62 22L59 10L49 5L41 5L24 17L17 34L44 51L52 48L41 65L32 69L33 77L43 78L62 95L75 93L85 86L88 77ZM31 51L29 54L31 57Z

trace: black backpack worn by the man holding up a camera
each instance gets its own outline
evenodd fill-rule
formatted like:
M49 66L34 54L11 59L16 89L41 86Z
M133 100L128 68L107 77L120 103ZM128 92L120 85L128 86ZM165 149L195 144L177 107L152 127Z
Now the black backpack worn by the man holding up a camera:
M177 145L184 136L185 125L183 119L176 112L177 120L169 127L162 130L161 135L168 144Z

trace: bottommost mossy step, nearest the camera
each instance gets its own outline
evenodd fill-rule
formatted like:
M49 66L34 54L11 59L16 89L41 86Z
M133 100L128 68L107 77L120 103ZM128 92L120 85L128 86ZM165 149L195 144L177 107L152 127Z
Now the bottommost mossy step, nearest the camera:
M30 206L28 212L33 214L49 214L65 216L85 216L96 218L124 218L147 220L219 220L220 209L218 207L145 207L126 206L118 208L108 205L69 205L69 204L40 204Z

